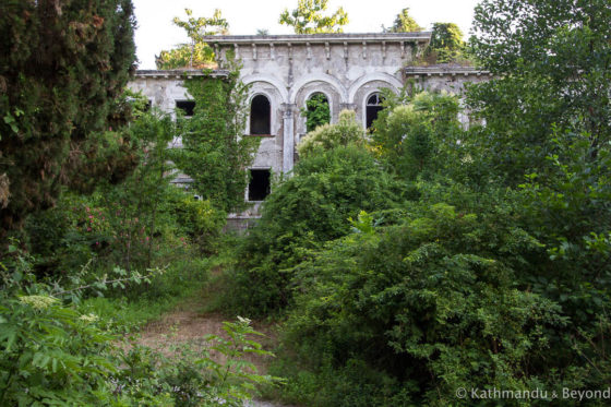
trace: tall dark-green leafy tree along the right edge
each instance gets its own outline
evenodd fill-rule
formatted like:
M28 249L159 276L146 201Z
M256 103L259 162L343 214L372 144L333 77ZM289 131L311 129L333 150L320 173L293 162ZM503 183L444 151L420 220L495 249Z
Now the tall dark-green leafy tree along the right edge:
M553 261L530 283L582 327L611 301L610 25L609 0L484 0L471 38L496 79L470 88L486 127L463 145L474 173L527 192L528 228Z

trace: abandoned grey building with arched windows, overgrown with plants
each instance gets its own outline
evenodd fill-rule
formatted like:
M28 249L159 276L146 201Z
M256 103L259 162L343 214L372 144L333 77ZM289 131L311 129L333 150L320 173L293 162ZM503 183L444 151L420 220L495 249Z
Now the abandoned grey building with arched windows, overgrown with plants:
M245 136L261 137L244 199L251 210L231 215L235 223L257 217L259 204L269 192L273 173L291 171L296 145L307 133L306 103L319 95L328 103L331 122L351 109L369 128L380 108L380 89L395 93L407 83L431 91L460 94L467 82L488 79L487 72L464 67L418 67L431 33L255 35L206 37L220 67L235 56L241 60L241 80L250 84L250 119ZM216 74L221 75L221 72ZM130 87L153 106L192 115L194 103L181 86L199 71L139 71ZM462 120L465 120L462 118ZM175 146L180 146L176 140ZM184 182L185 180L178 180Z

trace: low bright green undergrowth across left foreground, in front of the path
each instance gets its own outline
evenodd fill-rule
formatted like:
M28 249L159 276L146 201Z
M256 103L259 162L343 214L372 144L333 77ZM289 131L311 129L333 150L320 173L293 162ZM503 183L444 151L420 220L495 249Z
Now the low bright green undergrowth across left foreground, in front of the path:
M120 280L58 286L40 283L31 258L10 249L0 263L0 403L2 405L242 406L254 384L275 379L255 373L247 354L267 354L251 339L250 321L225 323L229 339L209 336L203 354L189 347L177 358L134 347L117 347L121 332L111 322L74 307L92 286L145 282L133 274ZM68 306L62 298L70 298ZM119 321L117 325L120 325ZM223 364L207 350L224 355Z

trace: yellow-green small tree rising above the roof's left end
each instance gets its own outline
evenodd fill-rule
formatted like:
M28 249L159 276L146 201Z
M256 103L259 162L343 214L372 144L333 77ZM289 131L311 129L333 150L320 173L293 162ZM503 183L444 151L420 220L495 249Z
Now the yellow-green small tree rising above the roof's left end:
M184 9L187 20L173 19L173 24L184 28L190 44L182 44L171 50L163 50L156 59L158 69L176 68L209 68L214 63L214 51L204 43L204 36L227 34L229 23L221 16L220 10L216 9L212 17L193 16L193 11Z

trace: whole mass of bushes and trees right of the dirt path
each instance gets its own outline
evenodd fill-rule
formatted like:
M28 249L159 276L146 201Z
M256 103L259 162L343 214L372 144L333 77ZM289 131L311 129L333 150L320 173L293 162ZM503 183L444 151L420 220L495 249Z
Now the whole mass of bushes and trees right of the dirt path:
M602 1L483 1L471 47L499 77L470 86L470 129L455 96L404 92L366 149L339 142L361 136L347 122L303 139L228 273L233 306L283 318L276 396L470 406L499 400L457 390L608 387L609 22ZM330 166L347 152L380 194Z

